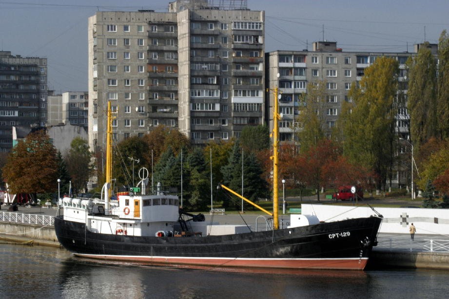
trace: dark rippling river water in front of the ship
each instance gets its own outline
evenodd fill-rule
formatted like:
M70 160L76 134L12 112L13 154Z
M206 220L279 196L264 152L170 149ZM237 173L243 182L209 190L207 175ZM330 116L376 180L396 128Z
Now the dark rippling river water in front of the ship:
M449 271L277 273L98 262L66 250L0 243L0 298L448 298Z

